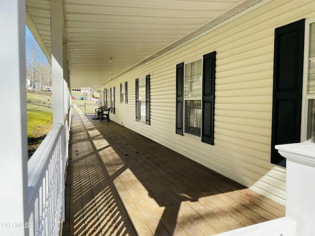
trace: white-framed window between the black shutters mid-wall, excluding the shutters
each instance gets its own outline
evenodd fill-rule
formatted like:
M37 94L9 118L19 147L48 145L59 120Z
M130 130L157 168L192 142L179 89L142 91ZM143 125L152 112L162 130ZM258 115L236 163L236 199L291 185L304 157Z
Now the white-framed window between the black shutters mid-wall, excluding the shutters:
M185 63L184 132L201 137L202 59Z

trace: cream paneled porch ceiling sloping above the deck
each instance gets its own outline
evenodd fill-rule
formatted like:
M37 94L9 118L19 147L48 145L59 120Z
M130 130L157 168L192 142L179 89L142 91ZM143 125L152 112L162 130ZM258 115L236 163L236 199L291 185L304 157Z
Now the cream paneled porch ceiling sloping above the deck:
M63 0L71 87L99 86L259 1ZM26 23L51 61L50 2L26 0Z

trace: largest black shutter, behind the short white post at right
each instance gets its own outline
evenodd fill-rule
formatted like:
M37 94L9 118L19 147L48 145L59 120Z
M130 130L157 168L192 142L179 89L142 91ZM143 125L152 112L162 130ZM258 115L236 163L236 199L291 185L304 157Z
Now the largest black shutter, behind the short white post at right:
M286 166L275 145L301 135L305 20L275 29L271 163Z

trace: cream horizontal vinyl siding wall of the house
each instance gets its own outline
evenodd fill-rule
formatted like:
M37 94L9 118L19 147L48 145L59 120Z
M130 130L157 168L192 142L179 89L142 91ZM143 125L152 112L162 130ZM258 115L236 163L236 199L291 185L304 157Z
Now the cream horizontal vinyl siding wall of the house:
M314 0L268 0L104 85L128 82L111 119L285 204L285 168L270 163L275 28L315 17ZM215 145L175 134L176 64L216 51ZM150 125L135 121L135 79L150 74ZM116 92L119 101L119 92Z

